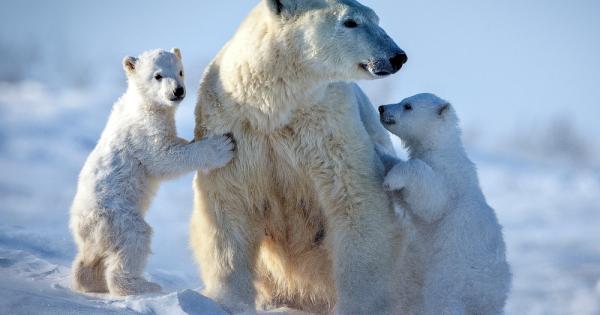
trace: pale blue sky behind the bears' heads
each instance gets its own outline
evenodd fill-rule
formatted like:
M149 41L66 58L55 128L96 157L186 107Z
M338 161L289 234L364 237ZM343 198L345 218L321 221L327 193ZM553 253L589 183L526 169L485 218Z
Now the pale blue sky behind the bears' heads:
M0 48L37 54L41 61L28 69L33 79L55 80L47 74L57 72L60 78L74 65L94 84L106 73L121 83L124 55L177 46L193 86L255 3L5 1ZM398 75L363 84L375 104L427 91L452 101L464 125L482 133L506 133L559 117L574 119L586 133L599 130L600 2L363 3L375 9L409 55Z

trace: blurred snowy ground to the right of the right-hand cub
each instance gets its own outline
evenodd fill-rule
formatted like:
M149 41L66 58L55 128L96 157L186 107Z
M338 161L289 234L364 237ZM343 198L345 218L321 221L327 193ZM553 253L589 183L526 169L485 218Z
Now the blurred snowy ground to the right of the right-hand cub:
M507 313L599 314L600 174L514 162L479 163L513 268Z

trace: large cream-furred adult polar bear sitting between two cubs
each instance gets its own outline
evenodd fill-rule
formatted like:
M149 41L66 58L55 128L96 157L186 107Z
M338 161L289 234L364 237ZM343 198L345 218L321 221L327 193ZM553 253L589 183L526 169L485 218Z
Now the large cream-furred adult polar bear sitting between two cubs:
M197 174L190 237L227 310L393 312L401 237L374 151L390 140L347 83L406 62L378 22L353 0L263 0L206 70L196 139L231 132L238 152Z

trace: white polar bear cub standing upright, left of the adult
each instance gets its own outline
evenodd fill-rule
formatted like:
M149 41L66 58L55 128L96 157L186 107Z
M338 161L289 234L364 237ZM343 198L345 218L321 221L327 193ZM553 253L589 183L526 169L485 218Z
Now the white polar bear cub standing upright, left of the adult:
M129 87L83 166L70 222L74 288L118 296L160 291L142 276L152 234L144 214L159 182L222 167L234 151L229 136L177 137L175 110L185 97L179 49L126 57L123 66Z

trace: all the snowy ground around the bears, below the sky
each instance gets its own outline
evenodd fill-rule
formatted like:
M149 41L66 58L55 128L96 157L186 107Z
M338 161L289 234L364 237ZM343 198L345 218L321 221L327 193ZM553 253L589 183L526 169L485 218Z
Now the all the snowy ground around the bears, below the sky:
M67 229L76 177L119 89L0 83L0 313L220 314L187 248L191 175L162 186L148 277L164 295L111 299L69 289ZM192 102L178 114L191 136ZM469 147L505 227L508 314L600 314L600 172Z

